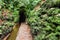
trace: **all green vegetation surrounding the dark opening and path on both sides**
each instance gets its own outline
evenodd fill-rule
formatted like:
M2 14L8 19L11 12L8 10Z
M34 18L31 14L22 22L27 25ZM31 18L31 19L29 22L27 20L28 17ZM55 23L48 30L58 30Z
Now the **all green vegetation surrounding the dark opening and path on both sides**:
M36 11L34 8L38 4L40 8ZM4 20L0 24L0 34L4 27L11 28L18 23L21 6L25 7L34 40L60 40L60 0L0 0L0 21ZM9 10L7 18L2 15L1 9Z

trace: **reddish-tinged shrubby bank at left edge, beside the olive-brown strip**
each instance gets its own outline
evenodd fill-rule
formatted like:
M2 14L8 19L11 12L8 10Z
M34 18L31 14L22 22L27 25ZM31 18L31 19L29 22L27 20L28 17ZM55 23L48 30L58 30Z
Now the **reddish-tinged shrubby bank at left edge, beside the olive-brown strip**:
M0 13L0 40L12 31L14 26L13 15L6 9L2 9Z

